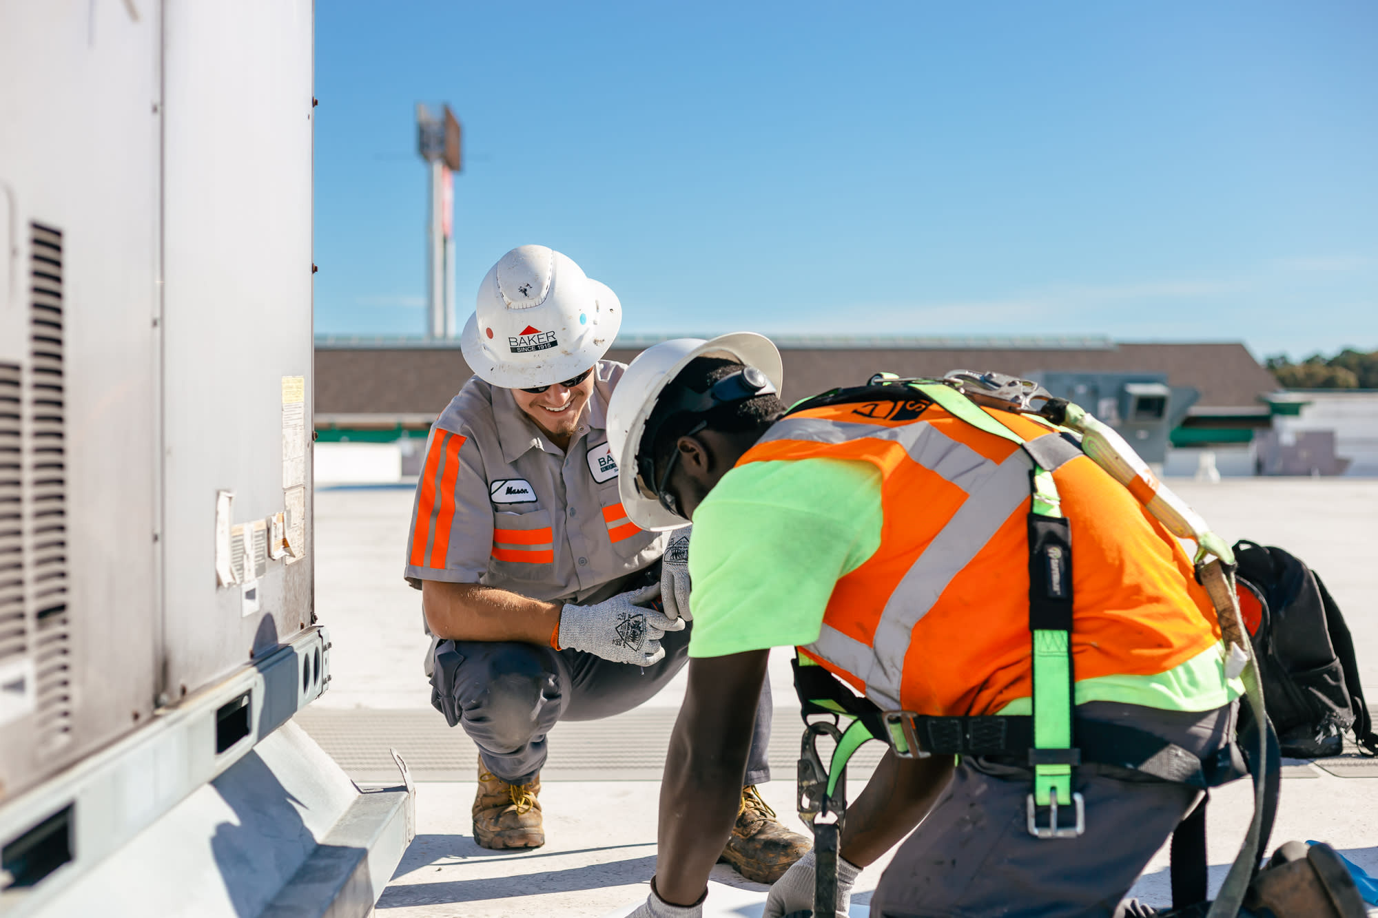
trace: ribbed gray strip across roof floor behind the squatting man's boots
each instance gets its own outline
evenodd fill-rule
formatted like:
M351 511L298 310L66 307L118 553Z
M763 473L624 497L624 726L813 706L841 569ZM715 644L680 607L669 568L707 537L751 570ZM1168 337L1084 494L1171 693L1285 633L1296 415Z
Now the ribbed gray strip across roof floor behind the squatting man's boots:
M550 759L543 782L660 780L678 707L641 707L601 721L568 721L550 732ZM478 750L459 726L449 728L429 708L307 708L296 722L356 782L393 782L395 747L418 782L473 782ZM776 708L769 761L776 780L791 780L799 759L803 722L798 708ZM635 746L627 736L639 737ZM831 747L820 754L831 755ZM885 754L883 743L867 743L852 758L849 777L864 780Z

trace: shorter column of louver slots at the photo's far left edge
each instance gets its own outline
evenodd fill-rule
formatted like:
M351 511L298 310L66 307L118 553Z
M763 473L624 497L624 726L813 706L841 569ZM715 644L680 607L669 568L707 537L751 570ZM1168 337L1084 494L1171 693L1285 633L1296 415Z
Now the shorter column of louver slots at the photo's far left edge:
M23 657L22 378L17 364L0 364L0 667Z

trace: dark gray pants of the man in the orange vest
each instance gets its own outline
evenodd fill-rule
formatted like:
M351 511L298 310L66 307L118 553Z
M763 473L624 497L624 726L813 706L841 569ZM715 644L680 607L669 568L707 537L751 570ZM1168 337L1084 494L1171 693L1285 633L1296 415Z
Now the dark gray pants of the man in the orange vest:
M1078 715L1127 724L1206 757L1233 736L1235 710L1091 702ZM963 757L881 877L871 918L1109 918L1199 794L1138 772L1084 765L1076 769L1076 790L1086 801L1086 834L1034 838L1025 813L1032 782L1027 768Z

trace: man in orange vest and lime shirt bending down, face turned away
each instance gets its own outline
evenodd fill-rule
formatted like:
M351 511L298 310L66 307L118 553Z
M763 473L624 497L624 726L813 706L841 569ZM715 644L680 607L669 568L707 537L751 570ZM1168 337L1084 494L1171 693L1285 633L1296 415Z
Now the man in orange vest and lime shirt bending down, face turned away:
M1237 693L1191 561L1049 426L941 385L871 385L787 412L780 376L759 335L671 340L633 361L609 407L628 518L695 524L689 689L652 895L633 915L701 914L750 746L743 699L788 645L911 737L955 724L936 717L1034 721L1022 737L958 729L944 750L956 765L901 758L912 746L897 740L846 809L838 914L860 868L915 826L872 918L1113 914L1199 791L1146 762L1105 765L1083 740L1237 764ZM1036 717L1016 718L1035 699ZM1067 748L1073 722L1080 751ZM766 915L812 908L813 864L810 852L774 885Z

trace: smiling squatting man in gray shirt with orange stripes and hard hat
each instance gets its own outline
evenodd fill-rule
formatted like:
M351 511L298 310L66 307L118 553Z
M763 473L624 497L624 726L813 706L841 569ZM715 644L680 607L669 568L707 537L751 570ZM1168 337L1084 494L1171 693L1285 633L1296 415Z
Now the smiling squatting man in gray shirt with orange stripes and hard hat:
M626 368L602 357L620 323L613 292L569 258L513 249L460 339L477 375L431 427L405 576L434 638L431 703L480 748L484 848L544 844L540 768L557 721L628 711L688 662L689 531L627 520L608 448ZM677 551L661 565L667 540ZM657 600L664 613L648 608ZM769 780L769 693L747 708L750 766L718 853L770 882L809 842L755 791Z

